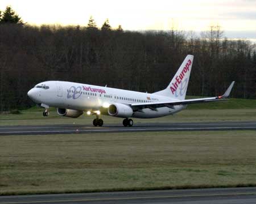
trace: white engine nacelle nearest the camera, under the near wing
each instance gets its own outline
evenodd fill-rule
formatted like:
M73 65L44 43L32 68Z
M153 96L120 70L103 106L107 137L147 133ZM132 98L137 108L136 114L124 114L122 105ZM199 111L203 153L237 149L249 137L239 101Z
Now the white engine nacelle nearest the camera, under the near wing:
M133 109L129 105L125 104L111 104L108 108L110 116L127 118L133 115Z

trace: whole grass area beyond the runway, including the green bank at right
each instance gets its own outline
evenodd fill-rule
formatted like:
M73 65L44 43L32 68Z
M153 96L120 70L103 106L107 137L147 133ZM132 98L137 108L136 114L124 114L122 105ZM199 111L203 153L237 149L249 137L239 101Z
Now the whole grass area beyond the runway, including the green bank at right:
M44 125L44 124L85 124L92 125L94 116L86 114L79 118L58 116L55 108L50 109L50 116L43 117L43 109L33 107L20 111L21 114L0 114L0 126L6 125ZM101 116L104 123L122 124L122 118ZM153 119L137 119L135 123L144 122L201 122L201 121L255 121L256 100L230 99L228 101L188 105L184 111Z

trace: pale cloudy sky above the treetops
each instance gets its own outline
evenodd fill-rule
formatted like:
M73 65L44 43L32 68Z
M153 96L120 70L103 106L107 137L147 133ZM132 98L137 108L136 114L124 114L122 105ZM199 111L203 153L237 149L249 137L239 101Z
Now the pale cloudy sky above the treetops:
M28 24L86 25L90 16L98 27L125 30L208 30L220 25L225 36L256 41L256 0L0 0Z

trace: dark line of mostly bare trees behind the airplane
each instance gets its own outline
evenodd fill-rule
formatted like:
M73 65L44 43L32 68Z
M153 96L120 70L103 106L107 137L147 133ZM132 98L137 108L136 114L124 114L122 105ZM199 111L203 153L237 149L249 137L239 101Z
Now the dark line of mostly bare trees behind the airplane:
M223 94L255 99L255 44L230 40L218 26L193 32L123 31L101 28L91 17L85 27L5 22L0 17L0 111L30 107L27 91L46 80L66 80L155 92L167 87L187 54L195 56L187 95ZM15 13L13 16L16 15Z

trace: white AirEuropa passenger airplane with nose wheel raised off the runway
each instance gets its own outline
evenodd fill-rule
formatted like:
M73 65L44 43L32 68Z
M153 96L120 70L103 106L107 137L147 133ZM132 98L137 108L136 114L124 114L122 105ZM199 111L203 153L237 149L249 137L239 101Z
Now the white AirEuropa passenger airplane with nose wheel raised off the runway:
M49 116L49 107L57 108L57 113L65 117L77 118L86 112L96 116L94 126L103 125L100 114L124 118L123 126L133 126L131 117L162 117L182 111L188 104L227 100L234 81L222 96L185 99L192 63L192 55L185 57L166 89L152 94L74 82L47 81L36 84L27 95L45 109L43 116Z

